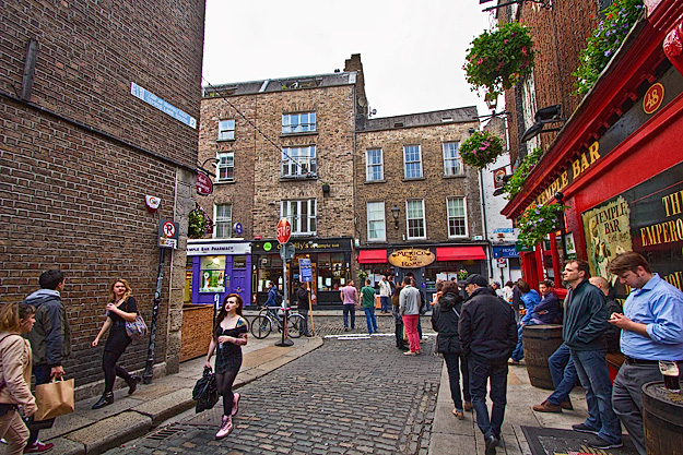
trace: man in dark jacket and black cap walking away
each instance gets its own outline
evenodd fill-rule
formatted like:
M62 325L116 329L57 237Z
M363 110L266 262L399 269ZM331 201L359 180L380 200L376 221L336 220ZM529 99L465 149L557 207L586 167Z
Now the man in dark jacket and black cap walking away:
M473 274L462 283L470 299L462 307L459 336L469 357L470 393L476 424L484 434L486 455L495 455L507 402L507 359L517 344L517 323L510 306L491 294L486 278ZM491 379L491 418L486 383Z

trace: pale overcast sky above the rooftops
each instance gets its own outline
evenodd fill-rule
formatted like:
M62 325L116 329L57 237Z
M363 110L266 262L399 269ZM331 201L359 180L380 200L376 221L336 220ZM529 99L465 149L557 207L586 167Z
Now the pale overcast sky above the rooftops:
M462 71L470 43L493 23L487 4L207 0L202 84L332 73L361 53L376 117L464 106L488 113Z

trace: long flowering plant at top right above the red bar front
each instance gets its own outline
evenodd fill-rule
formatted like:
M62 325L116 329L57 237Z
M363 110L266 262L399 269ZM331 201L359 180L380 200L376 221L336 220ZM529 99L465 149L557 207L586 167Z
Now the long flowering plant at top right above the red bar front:
M572 73L576 77L577 95L584 96L590 91L641 11L643 0L615 0L603 11L604 19L588 37L586 49L579 55L579 68Z

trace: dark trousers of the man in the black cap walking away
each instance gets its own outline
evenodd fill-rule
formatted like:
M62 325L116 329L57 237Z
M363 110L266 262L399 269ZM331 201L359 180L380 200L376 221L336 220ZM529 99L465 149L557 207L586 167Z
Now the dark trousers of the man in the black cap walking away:
M472 406L476 412L476 426L484 433L484 439L501 436L501 427L507 404L507 363L491 364L470 357L470 393ZM486 383L491 379L491 419L486 406Z

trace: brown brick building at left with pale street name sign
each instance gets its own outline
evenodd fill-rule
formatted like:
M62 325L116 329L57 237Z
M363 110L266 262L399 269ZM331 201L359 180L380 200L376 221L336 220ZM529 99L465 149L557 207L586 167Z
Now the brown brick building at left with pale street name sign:
M179 248L166 255L155 351L160 373L177 371L204 2L2 7L2 300L36 290L44 270L64 271L73 330L64 370L76 395L101 393L94 382L103 378L102 348L91 342L105 321L109 286L128 279L149 323L158 220L179 221ZM161 199L156 214L145 209L145 195ZM140 371L145 355L146 342L130 346L126 368Z

